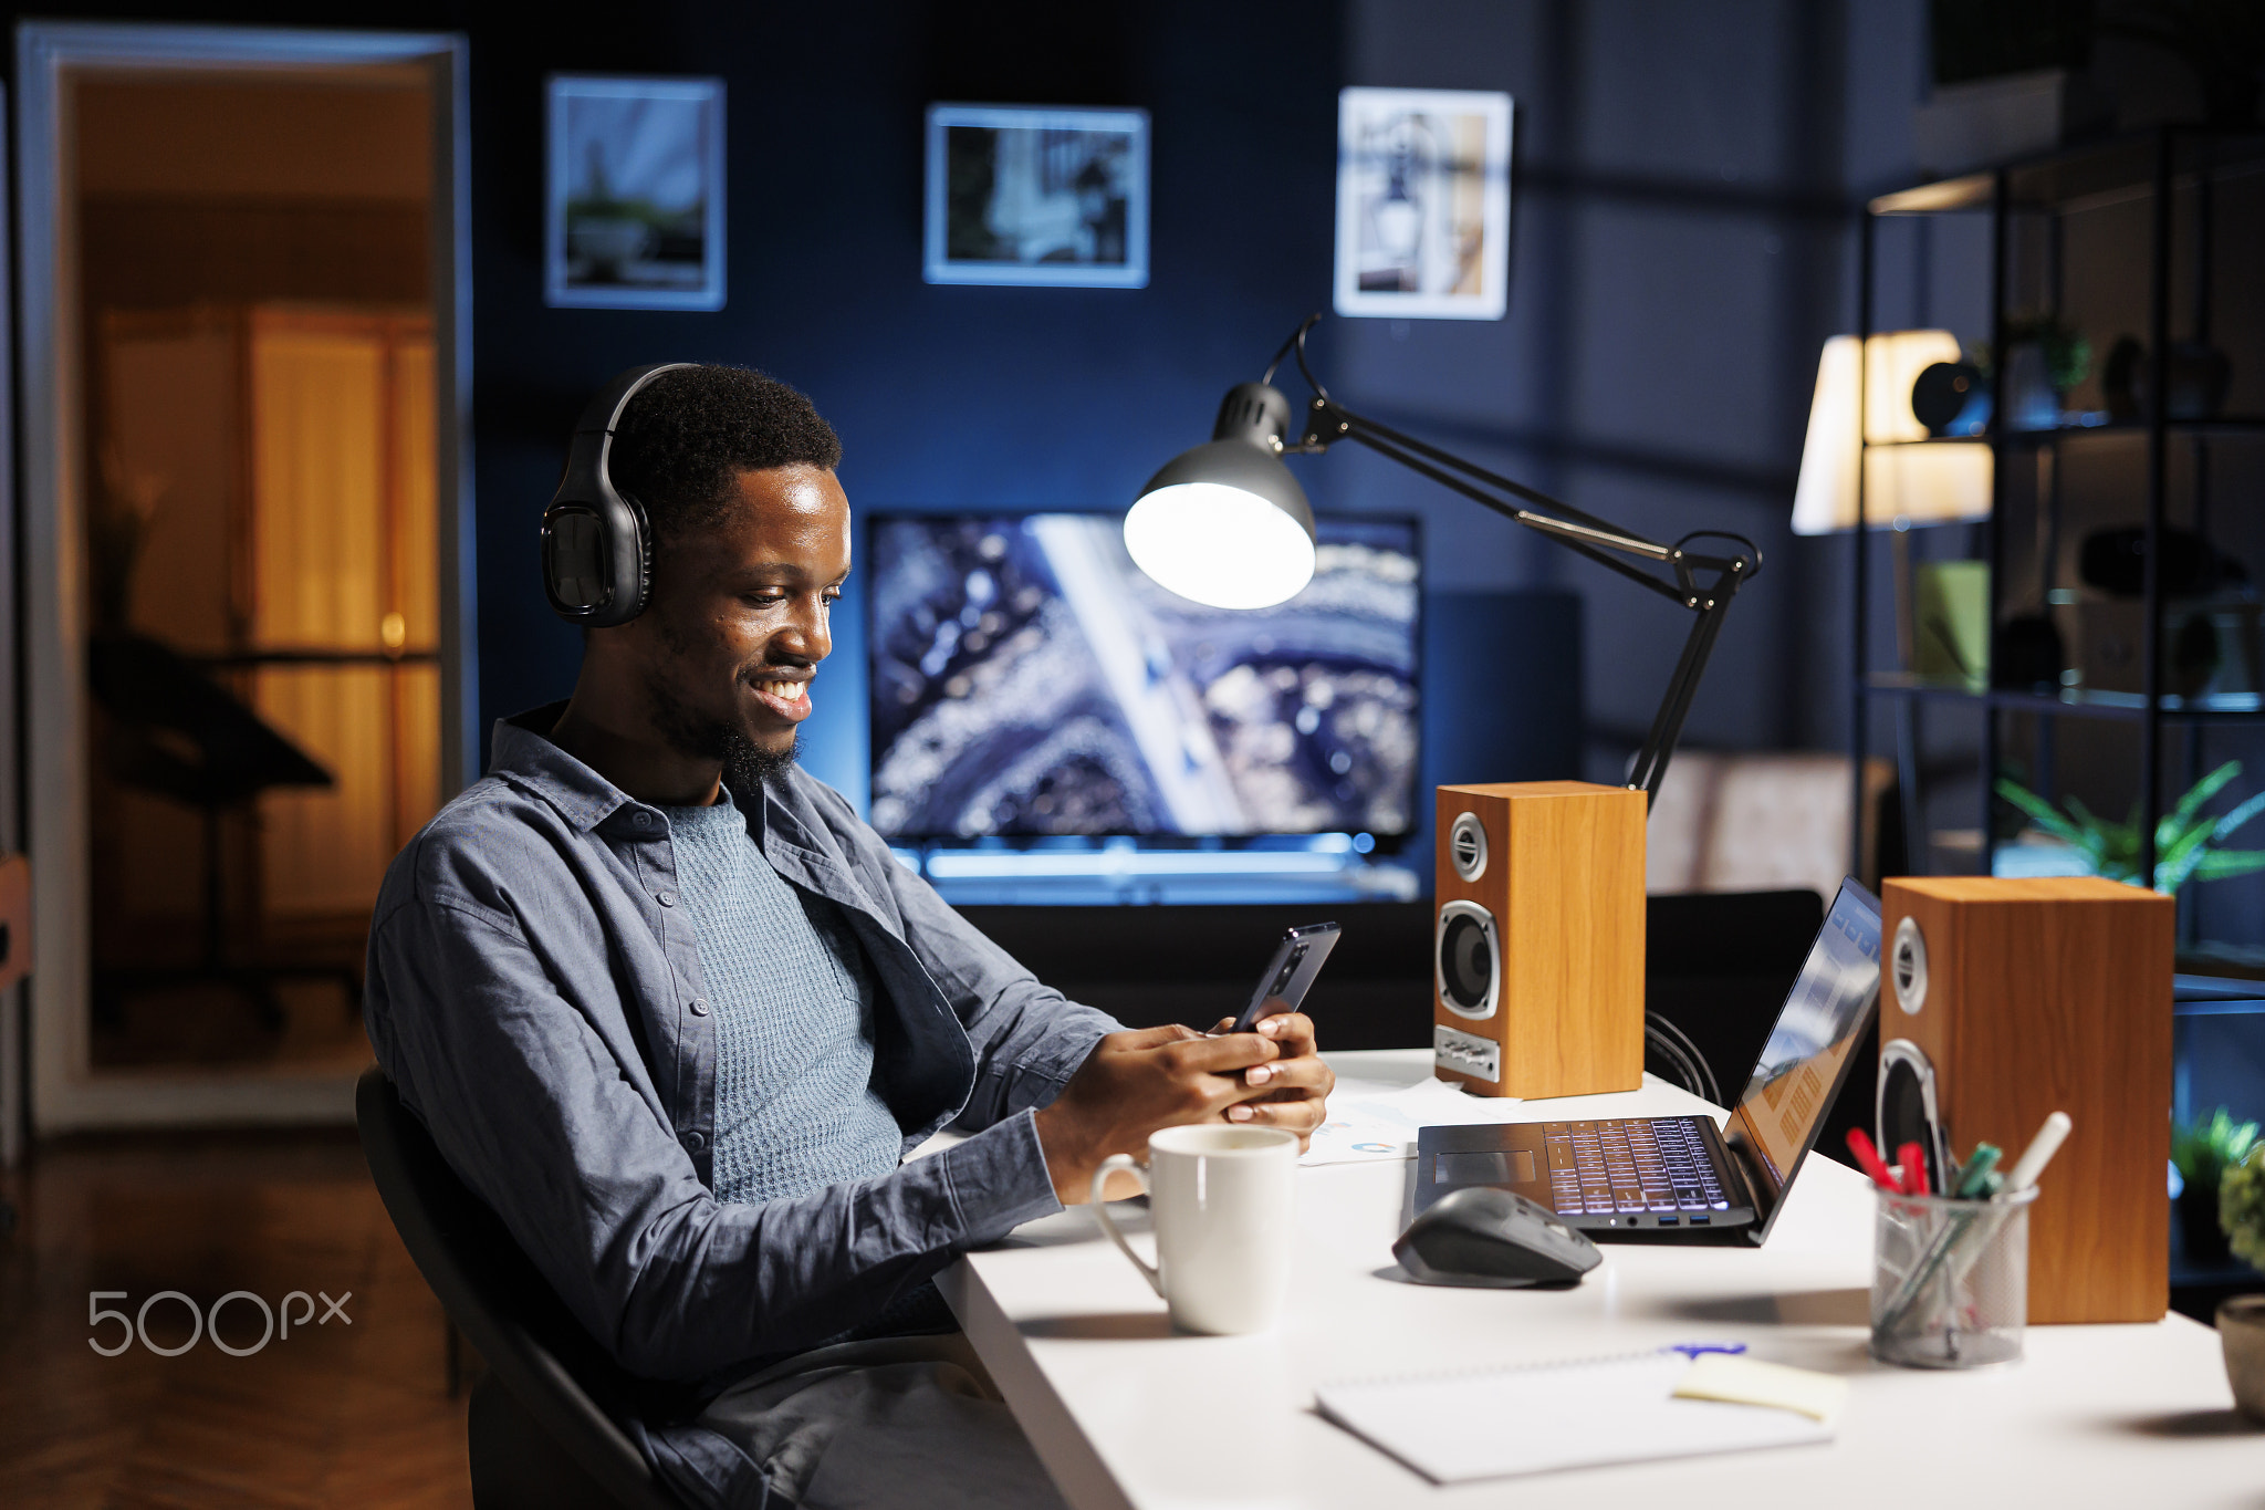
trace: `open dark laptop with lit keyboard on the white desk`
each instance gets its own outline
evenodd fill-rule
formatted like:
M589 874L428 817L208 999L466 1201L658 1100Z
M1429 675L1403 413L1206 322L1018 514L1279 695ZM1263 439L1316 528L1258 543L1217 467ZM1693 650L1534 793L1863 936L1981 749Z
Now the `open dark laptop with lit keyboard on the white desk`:
M1724 1130L1710 1116L1425 1127L1416 1209L1472 1184L1597 1241L1762 1243L1880 1003L1880 899L1844 881Z

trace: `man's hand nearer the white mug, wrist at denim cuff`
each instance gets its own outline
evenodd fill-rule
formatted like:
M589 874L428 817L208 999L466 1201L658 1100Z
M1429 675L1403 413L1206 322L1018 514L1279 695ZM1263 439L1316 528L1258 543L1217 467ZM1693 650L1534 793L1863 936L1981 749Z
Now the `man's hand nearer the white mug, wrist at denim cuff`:
M1257 1032L1205 1037L1164 1026L1103 1037L1062 1093L1037 1112L1055 1198L1065 1207L1085 1204L1094 1170L1110 1155L1139 1157L1151 1132L1216 1121L1228 1107L1253 1100L1243 1071L1280 1057L1282 1048ZM1117 1175L1108 1191L1110 1200L1137 1193L1130 1175Z

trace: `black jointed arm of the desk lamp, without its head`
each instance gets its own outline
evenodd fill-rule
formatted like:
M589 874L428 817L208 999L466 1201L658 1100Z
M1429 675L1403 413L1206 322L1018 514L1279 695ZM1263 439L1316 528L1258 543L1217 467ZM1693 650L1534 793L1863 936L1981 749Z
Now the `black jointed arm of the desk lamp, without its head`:
M1667 758L1676 749L1676 740L1683 733L1683 720L1690 713L1692 695L1699 690L1699 677L1706 675L1708 657L1715 652L1715 638L1721 634L1721 618L1730 609L1730 598L1737 595L1746 582L1751 582L1762 570L1760 548L1742 534L1726 534L1721 530L1694 530L1672 546L1644 539L1642 534L1631 534L1619 525L1606 523L1595 514L1583 514L1581 509L1558 503L1556 498L1536 491L1522 482L1513 482L1499 473L1475 466L1463 457L1441 451L1427 441L1411 435L1402 435L1391 426L1375 419L1354 414L1345 405L1330 398L1327 389L1314 380L1311 369L1305 364L1305 333L1314 328L1318 315L1307 319L1298 328L1280 355L1275 355L1275 367L1280 367L1282 355L1291 349L1298 353L1298 369L1314 389L1314 398L1305 410L1305 432L1298 444L1284 444L1277 439L1284 453L1320 453L1336 441L1357 441L1382 457L1400 462L1413 473L1420 473L1441 487L1454 489L1475 503L1518 521L1529 530L1538 530L1549 539L1558 541L1567 550L1576 550L1590 561L1615 570L1631 582L1674 600L1683 609L1694 614L1692 632L1683 641L1683 654L1676 661L1674 677L1667 679L1667 695L1660 700L1660 711L1651 720L1651 731L1644 736L1642 749L1635 754L1635 765L1629 770L1626 786L1631 790L1644 792L1644 806L1649 808L1660 795L1660 779L1667 774ZM1262 383L1273 380L1273 367L1266 369ZM1706 555L1690 550L1692 541L1717 539L1735 541L1742 546L1735 555ZM1617 555L1608 555L1617 552ZM1647 573L1619 557L1640 557L1647 561L1658 561L1667 566L1667 577Z

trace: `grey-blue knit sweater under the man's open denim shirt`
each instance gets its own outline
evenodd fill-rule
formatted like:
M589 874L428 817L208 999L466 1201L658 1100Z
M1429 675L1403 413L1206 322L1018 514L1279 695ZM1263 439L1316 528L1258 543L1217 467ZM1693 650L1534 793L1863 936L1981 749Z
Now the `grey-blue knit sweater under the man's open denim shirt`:
M779 878L732 795L664 808L716 1014L716 1198L763 1202L897 1168L872 1089L872 973L849 921Z

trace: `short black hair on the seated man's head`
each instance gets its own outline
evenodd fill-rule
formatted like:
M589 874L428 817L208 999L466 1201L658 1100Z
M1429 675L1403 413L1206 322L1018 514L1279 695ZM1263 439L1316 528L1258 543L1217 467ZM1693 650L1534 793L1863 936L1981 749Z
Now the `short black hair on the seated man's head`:
M793 387L747 367L680 367L630 401L607 475L668 546L723 521L738 473L840 460L834 426Z

